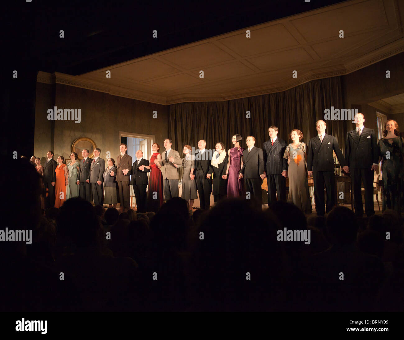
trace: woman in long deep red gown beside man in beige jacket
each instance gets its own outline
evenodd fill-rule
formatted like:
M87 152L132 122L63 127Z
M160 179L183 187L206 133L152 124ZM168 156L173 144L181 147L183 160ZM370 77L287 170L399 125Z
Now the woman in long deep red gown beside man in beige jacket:
M150 166L145 166L145 168L150 169L149 188L147 189L147 211L158 212L164 200L163 174L156 165L156 162L161 162L161 155L158 153L160 145L153 143L151 150L153 154L150 157Z

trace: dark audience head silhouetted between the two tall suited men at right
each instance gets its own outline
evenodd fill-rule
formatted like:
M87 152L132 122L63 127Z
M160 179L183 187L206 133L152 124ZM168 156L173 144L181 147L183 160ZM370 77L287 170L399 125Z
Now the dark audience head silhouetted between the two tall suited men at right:
M358 223L352 210L342 206L334 207L327 215L326 227L331 243L337 245L355 243Z

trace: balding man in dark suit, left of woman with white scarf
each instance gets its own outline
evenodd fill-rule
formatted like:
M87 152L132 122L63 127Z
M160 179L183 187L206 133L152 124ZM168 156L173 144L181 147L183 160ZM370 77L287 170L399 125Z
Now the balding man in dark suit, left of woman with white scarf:
M211 166L212 153L206 150L206 141L198 142L198 151L195 153L195 181L198 190L201 209L209 209L210 193L212 192L213 168Z

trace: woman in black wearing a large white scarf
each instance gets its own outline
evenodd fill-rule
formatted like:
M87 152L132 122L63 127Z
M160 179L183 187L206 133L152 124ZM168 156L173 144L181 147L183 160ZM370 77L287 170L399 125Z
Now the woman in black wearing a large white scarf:
M223 143L217 143L212 155L213 168L213 201L216 203L227 195L226 169L229 157Z

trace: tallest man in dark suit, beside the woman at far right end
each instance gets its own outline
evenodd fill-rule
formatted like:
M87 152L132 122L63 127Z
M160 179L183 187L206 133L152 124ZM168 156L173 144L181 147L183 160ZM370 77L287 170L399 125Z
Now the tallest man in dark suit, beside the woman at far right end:
M375 214L373 206L373 178L378 169L379 148L375 130L365 128L365 116L356 115L356 129L347 132L345 159L350 168L355 215L363 215L362 181L365 188L365 212L367 216Z

